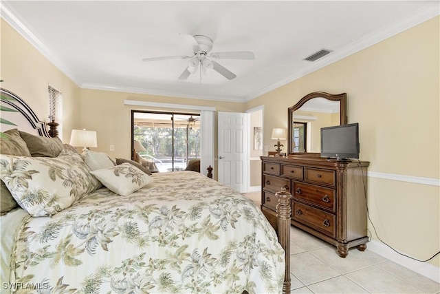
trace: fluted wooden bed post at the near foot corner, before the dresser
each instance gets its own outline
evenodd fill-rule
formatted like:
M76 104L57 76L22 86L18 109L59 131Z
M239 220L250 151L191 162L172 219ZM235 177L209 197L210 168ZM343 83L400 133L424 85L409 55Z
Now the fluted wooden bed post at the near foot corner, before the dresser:
M278 198L276 204L276 217L278 219L278 242L285 251L285 275L283 283L283 293L290 293L290 217L292 207L290 206L290 198L292 194L287 192L285 187L281 191L275 193Z

